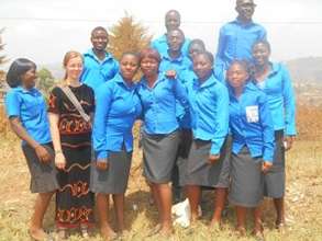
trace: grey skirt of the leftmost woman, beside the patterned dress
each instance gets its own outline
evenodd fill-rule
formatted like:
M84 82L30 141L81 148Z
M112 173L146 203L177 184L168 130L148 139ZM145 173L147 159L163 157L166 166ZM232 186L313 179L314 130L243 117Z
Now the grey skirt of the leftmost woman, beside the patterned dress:
M59 188L56 179L53 146L52 144L45 144L42 146L46 148L52 156L52 161L49 163L41 162L35 150L31 146L22 146L22 151L31 174L30 190L32 193L49 193Z

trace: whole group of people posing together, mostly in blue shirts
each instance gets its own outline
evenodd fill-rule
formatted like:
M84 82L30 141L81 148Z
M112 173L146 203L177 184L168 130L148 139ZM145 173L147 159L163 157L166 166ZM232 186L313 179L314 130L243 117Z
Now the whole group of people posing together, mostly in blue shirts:
M208 186L215 188L211 229L219 230L229 197L237 231L245 234L246 209L253 208L254 234L263 240L264 195L274 198L276 227L285 225L285 150L296 135L295 96L286 68L269 61L266 32L252 22L254 8L253 0L236 1L237 20L221 28L215 58L201 39L185 37L176 10L166 14L164 36L140 54L124 53L119 62L106 51L108 32L96 27L88 53L65 55L65 78L51 91L48 107L35 88L36 65L25 58L12 62L5 108L23 140L31 191L38 193L30 227L34 239L47 236L42 221L54 193L59 239L69 228L88 237L95 202L102 237L116 238L110 196L116 231L125 230L137 119L143 174L158 210L151 237L173 233L173 190L179 187L192 222L200 218L201 187ZM140 69L143 77L135 82Z

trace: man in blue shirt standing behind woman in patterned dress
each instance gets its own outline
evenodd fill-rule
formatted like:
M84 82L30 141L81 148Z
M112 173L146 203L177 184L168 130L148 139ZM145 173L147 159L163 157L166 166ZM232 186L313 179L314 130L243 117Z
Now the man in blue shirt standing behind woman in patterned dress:
M95 27L91 31L90 41L92 48L84 54L84 71L80 79L81 82L96 91L99 85L112 79L118 73L119 64L106 50L109 43L109 34L104 27Z

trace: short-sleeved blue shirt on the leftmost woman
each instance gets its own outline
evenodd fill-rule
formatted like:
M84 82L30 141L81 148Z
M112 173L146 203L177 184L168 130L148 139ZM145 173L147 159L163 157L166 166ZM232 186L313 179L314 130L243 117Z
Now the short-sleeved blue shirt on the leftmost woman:
M46 103L37 89L11 89L5 96L5 111L8 117L20 118L22 126L35 141L52 141ZM25 141L22 144L25 145Z

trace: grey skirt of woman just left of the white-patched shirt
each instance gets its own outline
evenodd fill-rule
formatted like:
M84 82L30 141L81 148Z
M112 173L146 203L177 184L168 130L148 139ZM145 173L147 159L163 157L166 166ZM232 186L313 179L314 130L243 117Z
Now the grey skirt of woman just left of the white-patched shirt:
M230 142L226 138L220 159L208 163L211 149L210 140L195 139L188 160L182 171L181 185L200 185L211 187L229 187L230 183Z

